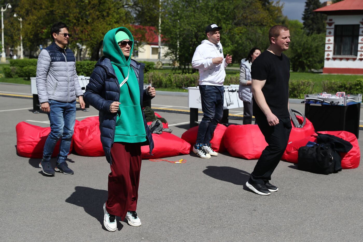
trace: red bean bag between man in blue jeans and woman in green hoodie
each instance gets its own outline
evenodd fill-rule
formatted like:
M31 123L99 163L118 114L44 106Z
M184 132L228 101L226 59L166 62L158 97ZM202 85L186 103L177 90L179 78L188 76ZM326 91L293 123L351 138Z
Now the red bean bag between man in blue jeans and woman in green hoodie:
M74 151L81 156L105 156L97 117L76 120L73 134Z

